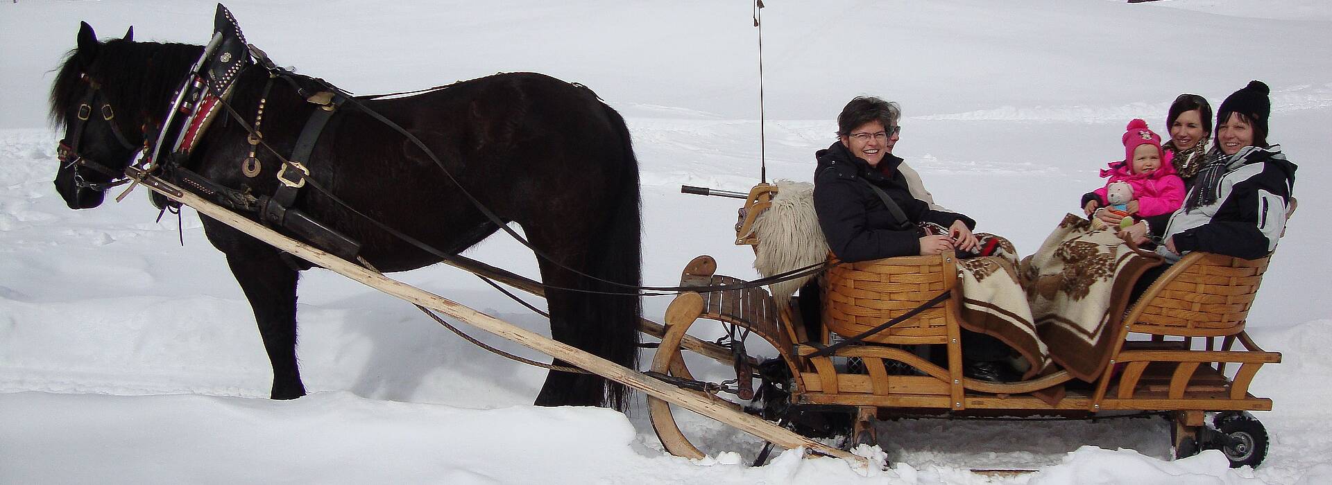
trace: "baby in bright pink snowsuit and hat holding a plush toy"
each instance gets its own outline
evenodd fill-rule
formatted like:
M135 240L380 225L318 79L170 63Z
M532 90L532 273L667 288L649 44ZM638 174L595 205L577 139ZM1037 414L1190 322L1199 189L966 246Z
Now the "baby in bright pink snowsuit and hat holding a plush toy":
M1184 181L1175 174L1169 154L1162 150L1162 137L1152 133L1143 120L1128 122L1123 136L1124 161L1111 162L1100 177L1108 177L1106 186L1083 198L1083 209L1091 215L1098 207L1111 206L1110 185L1126 182L1134 189L1132 202L1120 211L1128 215L1151 217L1169 214L1184 203ZM1092 197L1095 194L1095 197Z

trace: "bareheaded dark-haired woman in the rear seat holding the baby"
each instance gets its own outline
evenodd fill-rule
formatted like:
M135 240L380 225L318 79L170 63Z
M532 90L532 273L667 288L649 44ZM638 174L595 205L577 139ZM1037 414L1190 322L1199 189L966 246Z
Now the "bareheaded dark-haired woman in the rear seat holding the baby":
M1175 167L1175 174L1184 179L1187 191L1193 186L1193 177L1207 158L1207 138L1212 133L1212 105L1201 96L1180 94L1169 105L1166 126L1169 129L1171 140L1162 145L1162 150ZM1082 203L1088 217L1095 215L1111 226L1118 226L1123 218L1114 211L1099 210L1100 198L1095 193L1083 194ZM1138 219L1136 225L1124 230L1126 235L1144 238L1148 234L1164 234L1169 214L1138 217Z

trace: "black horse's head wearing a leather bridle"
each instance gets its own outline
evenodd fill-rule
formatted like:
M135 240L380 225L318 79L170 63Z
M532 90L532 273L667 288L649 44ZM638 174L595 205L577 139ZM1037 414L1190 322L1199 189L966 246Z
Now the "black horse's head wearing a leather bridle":
M109 183L123 177L125 166L144 145L137 106L127 106L125 86L111 86L124 78L115 70L113 56L107 56L112 43L133 44L135 28L125 37L101 43L92 27L79 29L79 47L65 58L51 89L51 117L64 125L65 136L57 154L56 191L69 209L101 205Z

